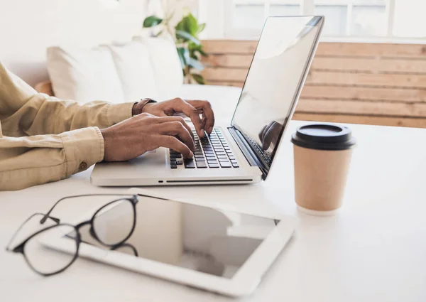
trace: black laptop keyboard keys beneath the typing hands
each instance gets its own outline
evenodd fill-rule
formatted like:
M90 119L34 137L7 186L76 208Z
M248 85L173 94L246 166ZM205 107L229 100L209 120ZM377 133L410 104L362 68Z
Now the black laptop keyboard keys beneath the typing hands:
M214 128L212 134L206 133L202 139L195 130L192 133L195 139L194 158L183 159L182 154L170 150L170 168L177 169L178 166L187 169L239 168L239 163L236 161L221 129Z

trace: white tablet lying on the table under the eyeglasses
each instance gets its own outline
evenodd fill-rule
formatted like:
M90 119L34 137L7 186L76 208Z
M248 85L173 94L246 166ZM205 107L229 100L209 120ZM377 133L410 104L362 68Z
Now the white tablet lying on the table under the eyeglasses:
M136 224L126 243L115 250L102 246L87 225L80 229L80 257L227 296L245 296L256 289L295 230L293 217L257 217L159 199L164 198L162 194L151 190L136 192L141 194L135 205ZM128 209L117 203L99 212L97 234L112 240L125 232ZM89 212L73 224L93 215L94 211ZM70 252L75 250L75 239L70 237L48 232L43 244Z

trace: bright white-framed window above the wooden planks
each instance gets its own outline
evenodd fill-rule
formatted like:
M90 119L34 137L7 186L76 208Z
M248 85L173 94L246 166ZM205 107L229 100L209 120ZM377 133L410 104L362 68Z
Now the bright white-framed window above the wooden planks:
M424 41L421 26L426 2L421 0L231 0L200 1L209 27L207 35L257 38L267 16L322 15L327 18L324 41ZM205 7L207 6L207 7ZM221 7L222 6L222 7ZM218 12L222 18L217 18ZM216 16L215 16L216 15ZM214 24L214 25L213 25Z

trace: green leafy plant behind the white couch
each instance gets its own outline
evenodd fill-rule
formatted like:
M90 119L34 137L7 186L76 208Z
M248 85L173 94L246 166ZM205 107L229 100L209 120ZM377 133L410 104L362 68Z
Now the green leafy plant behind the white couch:
M164 31L170 33L175 39L176 50L182 64L182 72L185 77L185 83L191 84L197 82L204 85L206 81L200 72L204 69L201 63L201 57L206 57L207 53L202 49L202 44L198 36L206 26L205 23L198 23L197 18L191 13L183 16L182 20L176 25L171 26L170 20L173 14L159 18L158 16L148 16L143 21L144 28L158 26L159 31L154 36L160 36Z

